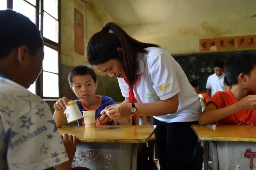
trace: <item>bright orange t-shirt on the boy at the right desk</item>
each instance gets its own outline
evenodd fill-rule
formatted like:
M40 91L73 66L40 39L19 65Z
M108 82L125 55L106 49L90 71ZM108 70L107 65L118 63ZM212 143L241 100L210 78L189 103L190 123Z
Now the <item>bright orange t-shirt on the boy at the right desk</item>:
M230 90L224 92L216 92L208 104L213 102L217 108L230 106L238 100L234 98ZM216 125L256 125L256 110L241 110L224 119L216 122Z

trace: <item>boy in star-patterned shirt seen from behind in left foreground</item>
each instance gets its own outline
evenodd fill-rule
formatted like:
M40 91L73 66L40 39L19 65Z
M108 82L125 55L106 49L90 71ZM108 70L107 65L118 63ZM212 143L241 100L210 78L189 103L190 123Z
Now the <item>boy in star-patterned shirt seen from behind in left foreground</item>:
M36 25L20 13L0 10L1 170L71 169L76 137L61 139L48 104L27 90L43 59Z

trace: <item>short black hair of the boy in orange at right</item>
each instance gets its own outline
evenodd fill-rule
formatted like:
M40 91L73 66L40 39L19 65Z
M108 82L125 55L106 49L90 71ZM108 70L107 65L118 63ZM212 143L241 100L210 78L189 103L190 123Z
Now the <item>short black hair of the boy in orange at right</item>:
M256 56L253 54L241 52L228 57L225 61L224 71L230 86L238 84L237 78L240 73L250 75L255 65Z

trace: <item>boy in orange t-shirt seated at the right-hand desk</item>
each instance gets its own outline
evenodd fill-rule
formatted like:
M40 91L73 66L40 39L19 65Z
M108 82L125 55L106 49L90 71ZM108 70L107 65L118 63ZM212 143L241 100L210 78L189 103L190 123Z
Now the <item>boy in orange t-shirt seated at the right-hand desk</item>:
M236 53L224 70L231 90L216 92L199 116L200 125L256 125L256 56Z

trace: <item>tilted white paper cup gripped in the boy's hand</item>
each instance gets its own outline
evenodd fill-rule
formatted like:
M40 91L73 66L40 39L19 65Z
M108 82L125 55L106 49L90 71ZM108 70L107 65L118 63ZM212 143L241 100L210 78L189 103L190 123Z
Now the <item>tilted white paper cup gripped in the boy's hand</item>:
M66 103L65 106L66 106L66 109L64 113L66 113L68 123L83 118L78 106L76 105L76 101L70 101Z

